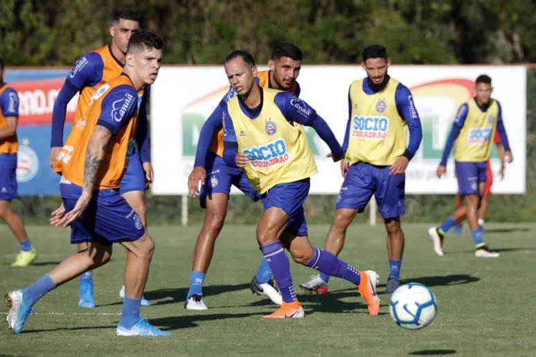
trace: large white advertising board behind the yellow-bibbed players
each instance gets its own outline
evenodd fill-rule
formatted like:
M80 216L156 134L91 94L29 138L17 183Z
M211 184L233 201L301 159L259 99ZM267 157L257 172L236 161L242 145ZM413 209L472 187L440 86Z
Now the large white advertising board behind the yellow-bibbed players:
M262 69L262 68L261 68ZM525 66L391 66L391 77L412 92L422 122L423 139L407 170L409 194L450 194L457 190L454 159L447 175L436 177L452 120L458 107L474 93L474 79L492 77L492 97L501 102L514 162L503 181L497 176L499 159L492 154L496 174L492 192L525 192L526 67ZM298 82L300 97L316 109L342 143L348 120L348 86L364 77L361 66L303 66ZM229 88L223 66L164 66L151 91L151 140L154 194L187 194L199 131ZM311 129L312 130L312 129ZM319 173L310 193L338 194L339 164L325 158L329 152L311 131L311 147Z

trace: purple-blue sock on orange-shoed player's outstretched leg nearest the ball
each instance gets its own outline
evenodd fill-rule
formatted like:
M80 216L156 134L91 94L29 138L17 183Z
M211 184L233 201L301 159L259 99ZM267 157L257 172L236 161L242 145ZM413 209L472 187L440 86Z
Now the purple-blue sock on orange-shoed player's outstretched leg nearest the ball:
M359 275L359 271L354 266L343 262L327 250L313 247L312 258L305 266L314 268L324 274L341 277L356 285L359 285L359 282L361 282L361 275Z

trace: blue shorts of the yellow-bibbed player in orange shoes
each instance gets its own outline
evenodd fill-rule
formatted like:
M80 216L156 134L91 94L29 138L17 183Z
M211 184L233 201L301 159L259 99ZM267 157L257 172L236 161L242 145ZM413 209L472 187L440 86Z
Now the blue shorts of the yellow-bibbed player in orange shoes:
M310 178L304 178L296 182L279 183L261 195L265 210L277 207L288 214L289 222L285 230L292 235L307 236L307 221L305 221L303 203L307 199L310 186Z

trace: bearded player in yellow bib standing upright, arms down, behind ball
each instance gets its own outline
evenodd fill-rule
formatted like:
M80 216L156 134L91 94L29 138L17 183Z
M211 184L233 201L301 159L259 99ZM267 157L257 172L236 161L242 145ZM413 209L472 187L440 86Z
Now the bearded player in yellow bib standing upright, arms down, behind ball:
M348 90L348 124L343 143L346 156L341 162L344 181L325 250L334 255L341 253L346 229L374 194L387 231L389 275L385 291L392 293L400 284L404 253L400 225L400 216L405 212L404 172L420 145L422 127L411 92L387 74L391 60L384 46L368 46L362 55L361 67L367 77L352 82ZM327 293L328 280L328 275L313 276L301 287Z

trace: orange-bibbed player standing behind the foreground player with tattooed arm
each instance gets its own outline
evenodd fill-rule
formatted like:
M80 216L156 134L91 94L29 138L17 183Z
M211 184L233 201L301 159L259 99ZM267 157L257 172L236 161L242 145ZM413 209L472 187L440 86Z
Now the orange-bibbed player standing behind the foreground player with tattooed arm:
M65 124L66 107L69 101L77 92L80 92L76 107L75 118L73 120L72 131L80 131L80 124L83 122L91 96L105 82L118 77L123 71L127 44L133 33L139 30L140 16L137 12L127 9L116 10L112 17L109 29L111 43L102 46L89 53L84 54L73 66L73 70L66 77L60 93L54 103L52 113L52 138L50 163L56 172L57 156L63 145L63 129ZM129 149L129 165L123 176L119 189L124 199L139 214L143 226L147 226L145 198L145 188L153 180L152 165L150 163L150 143L147 123L147 101L149 98L149 87L141 89L139 100L139 126L136 135L137 145L132 145ZM144 94L145 92L145 94ZM81 122L82 121L82 122ZM139 151L138 151L139 147ZM65 147L65 149L69 149ZM143 162L143 164L142 164ZM60 172L58 172L60 173ZM87 244L78 244L78 250L87 249ZM93 280L91 270L80 275L78 306L93 308L96 306L93 297ZM125 287L121 288L119 295L123 297ZM142 300L142 306L148 306L148 300Z

